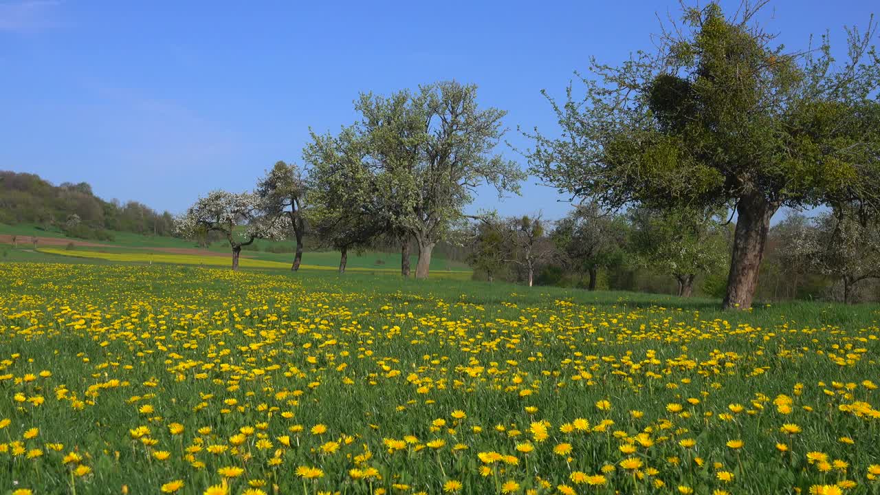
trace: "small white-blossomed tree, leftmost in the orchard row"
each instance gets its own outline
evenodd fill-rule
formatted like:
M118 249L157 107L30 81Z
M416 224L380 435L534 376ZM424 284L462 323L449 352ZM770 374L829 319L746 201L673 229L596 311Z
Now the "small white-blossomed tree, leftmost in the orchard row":
M256 239L282 239L290 231L286 217L266 216L260 197L252 193L211 191L175 219L175 230L184 237L200 232L222 233L232 249L232 270L238 270L241 248Z

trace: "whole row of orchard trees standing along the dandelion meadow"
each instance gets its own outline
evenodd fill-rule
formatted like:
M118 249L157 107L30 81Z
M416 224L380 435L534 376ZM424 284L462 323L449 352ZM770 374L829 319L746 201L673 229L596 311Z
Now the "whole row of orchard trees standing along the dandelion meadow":
M640 256L671 263L680 292L702 263L720 256L730 261L723 307L751 307L771 218L781 208L831 211L831 226L817 228L828 236L799 247L811 260L873 235L880 216L875 25L848 30L846 57L835 59L827 36L799 50L776 43L755 21L764 4L730 16L715 3L684 6L680 20L662 26L655 50L619 65L592 61L562 100L545 92L558 129L523 132L532 143L519 150L525 170L502 158L505 113L480 107L474 85L367 93L356 101L357 122L312 133L303 171L280 162L253 193L212 193L180 219L181 231L223 232L234 256L256 237L292 235L295 270L305 228L341 251L342 268L349 249L382 236L400 242L404 275L412 241L415 277L424 278L436 243L473 221L472 231L490 238L475 259L491 264L494 256L533 275L532 265L549 256L539 218L498 228L490 214L465 213L480 185L517 194L532 174L581 205L550 236L568 259L594 259L590 232L605 228L609 215L627 214L651 225L642 230L656 237L638 242ZM691 242L722 217L735 225L730 253ZM505 246L516 239L516 259L491 247L493 236ZM683 238L686 248L677 244ZM876 274L876 266L865 273Z

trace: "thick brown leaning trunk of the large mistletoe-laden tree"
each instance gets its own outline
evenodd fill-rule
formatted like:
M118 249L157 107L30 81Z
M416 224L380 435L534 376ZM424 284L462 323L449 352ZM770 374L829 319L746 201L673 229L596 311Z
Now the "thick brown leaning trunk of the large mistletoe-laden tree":
M763 196L743 196L737 204L737 229L733 235L733 255L730 260L730 274L727 277L727 294L724 296L724 309L749 309L755 289L758 288L758 273L764 259L767 233L770 231L770 218L779 205L769 203Z

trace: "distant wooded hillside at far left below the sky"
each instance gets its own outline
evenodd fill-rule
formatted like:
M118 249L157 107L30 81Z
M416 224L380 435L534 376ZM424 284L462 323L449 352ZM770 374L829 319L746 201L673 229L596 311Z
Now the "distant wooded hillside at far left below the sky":
M36 174L0 171L0 223L43 225L71 237L109 240L107 231L171 235L173 218L135 201L105 201L86 182L55 186Z

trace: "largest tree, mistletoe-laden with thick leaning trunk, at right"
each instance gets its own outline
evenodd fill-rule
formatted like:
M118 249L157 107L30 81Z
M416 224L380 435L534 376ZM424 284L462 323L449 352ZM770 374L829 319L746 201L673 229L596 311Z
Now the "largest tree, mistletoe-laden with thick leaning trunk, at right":
M758 8L766 2L759 2ZM605 208L691 205L737 212L723 307L751 307L770 218L855 201L880 208L880 61L875 33L848 31L848 59L827 37L787 52L744 5L685 7L683 23L618 67L591 63L585 97L554 107L561 137L537 130L534 174Z

